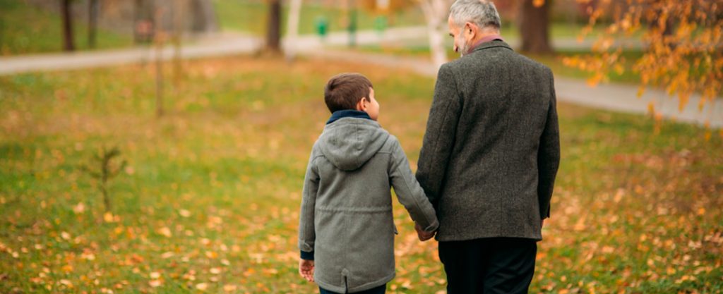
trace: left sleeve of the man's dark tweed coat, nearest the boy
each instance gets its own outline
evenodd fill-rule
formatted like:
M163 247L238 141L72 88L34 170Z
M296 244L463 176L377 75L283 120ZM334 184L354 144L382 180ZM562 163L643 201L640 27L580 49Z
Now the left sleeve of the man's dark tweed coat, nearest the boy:
M416 179L435 207L455 142L461 114L461 96L449 64L440 67L435 96L427 119L422 150L419 152Z

